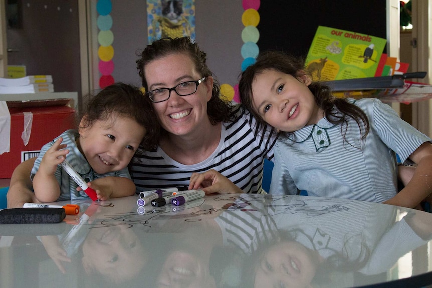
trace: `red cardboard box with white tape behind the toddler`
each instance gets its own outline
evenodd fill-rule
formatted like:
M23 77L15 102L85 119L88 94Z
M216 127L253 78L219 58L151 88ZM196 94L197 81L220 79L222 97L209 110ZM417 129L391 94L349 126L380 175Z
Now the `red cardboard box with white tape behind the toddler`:
M24 130L23 112L33 114L32 130L27 146L24 146L23 139L21 139ZM76 126L75 110L67 106L10 107L9 113L11 114L10 148L9 153L0 155L0 179L11 178L15 167L22 162L22 157L23 160L26 160L37 156L42 146Z

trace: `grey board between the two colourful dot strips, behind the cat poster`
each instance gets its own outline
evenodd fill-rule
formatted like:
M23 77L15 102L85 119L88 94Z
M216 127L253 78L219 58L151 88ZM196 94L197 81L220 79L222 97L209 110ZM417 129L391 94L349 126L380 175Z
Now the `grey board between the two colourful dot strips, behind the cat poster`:
M195 0L196 42L207 53L208 65L221 83L234 86L243 61L244 28L241 0ZM143 0L112 0L115 81L140 85L135 61L147 41L147 10Z

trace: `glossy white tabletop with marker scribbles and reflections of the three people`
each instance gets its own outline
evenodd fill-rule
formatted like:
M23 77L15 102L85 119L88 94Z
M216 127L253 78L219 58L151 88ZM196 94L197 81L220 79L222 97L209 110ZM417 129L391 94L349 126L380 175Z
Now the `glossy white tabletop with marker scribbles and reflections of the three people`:
M80 214L63 223L0 225L0 286L432 284L430 213L289 195L136 202L78 201Z

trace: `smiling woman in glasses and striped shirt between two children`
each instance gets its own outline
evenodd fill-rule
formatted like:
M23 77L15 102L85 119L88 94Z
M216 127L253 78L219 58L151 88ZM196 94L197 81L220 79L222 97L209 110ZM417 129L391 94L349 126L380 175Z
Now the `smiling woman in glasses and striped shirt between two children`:
M157 149L136 155L131 163L137 189L188 185L192 173L215 169L234 184L221 190L210 179L203 183L213 184L207 194L262 193L264 158L273 158L275 138L260 132L265 128L256 127L240 105L219 97L220 86L198 45L189 37L164 38L148 45L137 64L163 128ZM30 181L33 161L14 171L8 207L36 201Z

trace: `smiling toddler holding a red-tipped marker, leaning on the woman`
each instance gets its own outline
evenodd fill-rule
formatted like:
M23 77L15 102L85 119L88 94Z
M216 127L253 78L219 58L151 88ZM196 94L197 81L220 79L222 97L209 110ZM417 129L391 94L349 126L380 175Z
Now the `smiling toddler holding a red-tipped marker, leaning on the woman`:
M127 166L138 148L156 145L158 127L150 101L137 87L104 88L89 101L78 129L42 147L31 174L36 198L44 203L88 197L59 165L66 158L85 186L96 190L95 199L134 195Z

